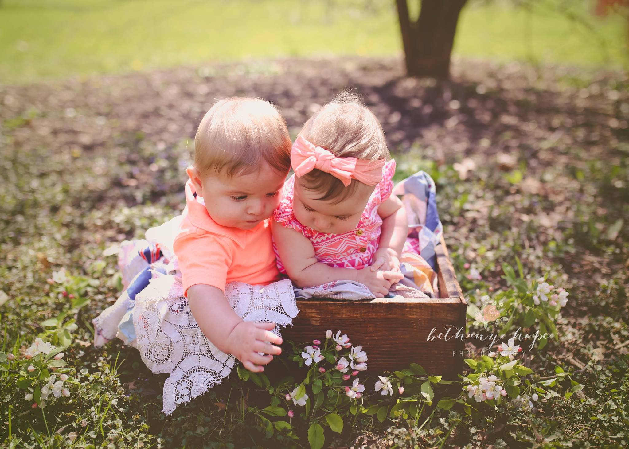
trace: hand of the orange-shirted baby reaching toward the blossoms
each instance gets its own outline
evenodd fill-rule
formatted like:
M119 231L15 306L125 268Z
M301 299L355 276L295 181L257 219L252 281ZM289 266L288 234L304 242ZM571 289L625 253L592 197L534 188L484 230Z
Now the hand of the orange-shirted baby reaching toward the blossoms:
M252 372L264 371L260 365L266 365L273 360L272 354L280 355L282 349L276 345L282 344L282 338L270 332L276 327L275 323L252 323L242 321L238 323L226 341L226 353L232 354L243 367ZM266 343L270 341L270 343ZM260 355L259 353L267 355Z

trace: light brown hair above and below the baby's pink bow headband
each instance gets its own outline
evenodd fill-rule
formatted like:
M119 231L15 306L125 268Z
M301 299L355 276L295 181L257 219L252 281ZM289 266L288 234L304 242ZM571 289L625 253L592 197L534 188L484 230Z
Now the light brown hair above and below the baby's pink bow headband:
M322 106L308 119L299 134L337 157L365 160L391 158L382 125L359 96L351 92L341 92ZM359 182L352 179L352 183L345 187L340 179L316 169L301 179L307 189L323 193L319 199L334 202L350 197Z

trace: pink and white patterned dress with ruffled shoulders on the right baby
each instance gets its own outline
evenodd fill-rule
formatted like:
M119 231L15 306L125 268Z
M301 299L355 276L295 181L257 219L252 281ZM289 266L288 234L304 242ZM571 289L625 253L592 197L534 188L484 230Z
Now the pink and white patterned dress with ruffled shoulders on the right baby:
M327 234L299 223L292 211L295 175L292 175L284 184L282 199L273 218L285 228L293 228L308 237L315 248L315 255L319 262L335 268L363 269L372 263L374 253L378 249L382 226L378 206L391 196L395 167L395 160L389 160L382 167L382 180L369 197L358 226L353 231L344 234ZM275 242L273 249L277 256L277 268L282 274L286 274Z

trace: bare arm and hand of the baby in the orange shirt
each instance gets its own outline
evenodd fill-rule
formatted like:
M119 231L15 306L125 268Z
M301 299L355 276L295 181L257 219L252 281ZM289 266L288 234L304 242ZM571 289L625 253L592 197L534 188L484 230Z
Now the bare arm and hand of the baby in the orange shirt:
M187 296L192 315L208 340L226 354L233 354L246 369L252 372L264 371L259 365L266 365L273 360L272 354L282 353L278 346L265 343L282 344L282 338L270 332L276 324L243 321L218 287L191 285L187 289ZM260 355L260 352L267 355Z

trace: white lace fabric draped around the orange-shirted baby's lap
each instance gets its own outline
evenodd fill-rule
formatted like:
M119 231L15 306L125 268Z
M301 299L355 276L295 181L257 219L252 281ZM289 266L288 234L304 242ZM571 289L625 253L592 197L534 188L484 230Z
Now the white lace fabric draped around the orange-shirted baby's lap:
M135 346L155 374L170 374L164 383L165 414L221 383L235 357L220 351L199 329L183 296L181 279L164 274L135 297ZM243 282L226 285L225 297L244 321L276 323L273 331L292 325L299 313L290 280L264 287Z

